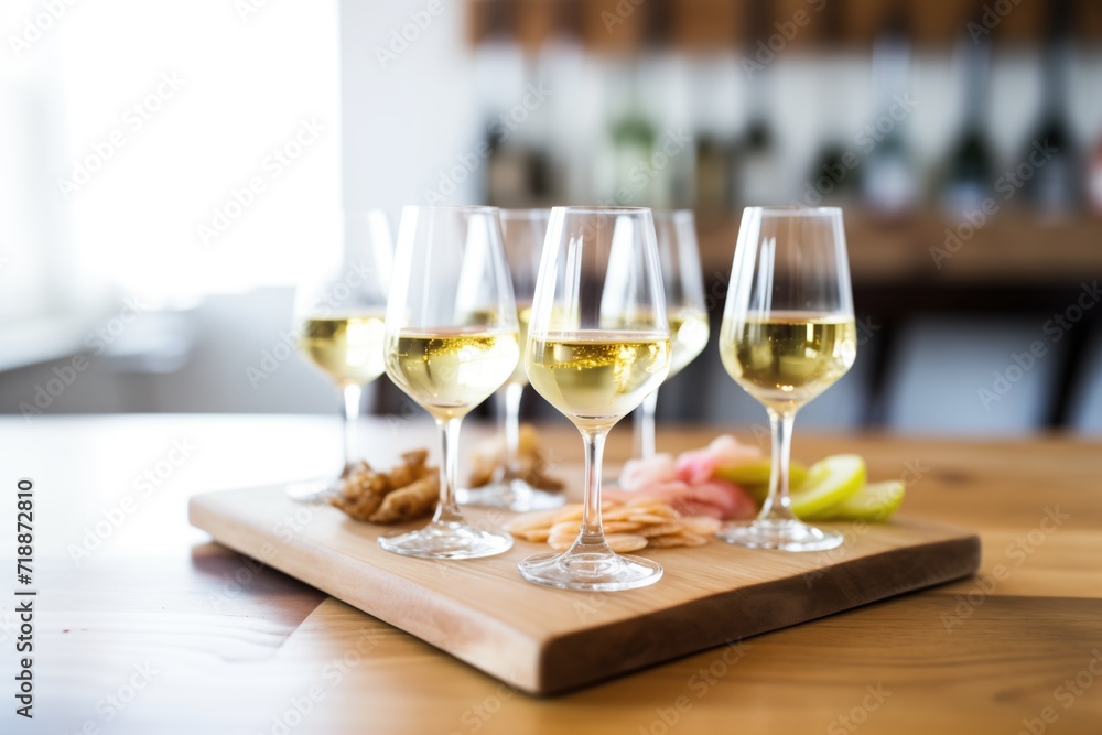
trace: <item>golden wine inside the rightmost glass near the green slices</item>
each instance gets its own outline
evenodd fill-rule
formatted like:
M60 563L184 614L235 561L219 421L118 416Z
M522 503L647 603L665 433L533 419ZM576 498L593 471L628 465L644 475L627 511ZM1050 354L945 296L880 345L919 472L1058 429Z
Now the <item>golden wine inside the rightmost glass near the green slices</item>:
M778 410L791 410L830 388L853 365L853 317L775 312L767 318L724 320L723 367L746 392Z

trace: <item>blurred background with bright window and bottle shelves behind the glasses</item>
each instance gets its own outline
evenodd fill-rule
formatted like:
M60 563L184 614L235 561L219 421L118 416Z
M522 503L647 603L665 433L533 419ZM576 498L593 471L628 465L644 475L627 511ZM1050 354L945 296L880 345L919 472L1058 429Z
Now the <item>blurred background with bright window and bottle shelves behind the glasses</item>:
M225 42L182 46L182 28ZM60 192L159 88L150 68L179 73L179 98ZM336 411L288 334L342 207L691 208L717 320L742 208L795 203L845 210L861 341L802 424L1102 433L1102 311L1082 289L1102 275L1100 90L1096 0L337 0L245 18L104 0L0 77L0 411ZM270 175L304 116L321 136ZM75 382L51 382L74 356ZM417 412L385 380L369 392L398 424ZM525 409L554 420L538 397ZM764 421L714 334L659 419Z

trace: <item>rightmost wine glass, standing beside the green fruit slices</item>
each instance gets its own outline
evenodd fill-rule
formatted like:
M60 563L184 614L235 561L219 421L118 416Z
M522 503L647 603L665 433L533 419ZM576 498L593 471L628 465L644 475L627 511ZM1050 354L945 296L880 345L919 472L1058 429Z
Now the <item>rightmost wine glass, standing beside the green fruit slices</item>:
M792 422L857 353L842 210L747 207L720 329L720 357L773 428L769 495L757 519L716 536L755 549L819 551L842 534L796 519L788 497Z

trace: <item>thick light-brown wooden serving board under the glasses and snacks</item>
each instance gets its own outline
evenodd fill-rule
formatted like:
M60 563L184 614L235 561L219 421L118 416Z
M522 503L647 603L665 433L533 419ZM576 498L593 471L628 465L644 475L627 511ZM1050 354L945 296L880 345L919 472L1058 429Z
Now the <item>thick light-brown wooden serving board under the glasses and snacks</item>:
M507 511L465 510L499 525ZM383 551L397 528L359 523L282 487L192 498L191 522L218 542L358 607L520 690L574 689L760 633L975 573L979 537L929 521L824 525L839 549L755 551L714 541L637 552L666 570L652 586L579 593L530 584L517 563L547 551L434 561ZM421 523L414 523L415 528Z

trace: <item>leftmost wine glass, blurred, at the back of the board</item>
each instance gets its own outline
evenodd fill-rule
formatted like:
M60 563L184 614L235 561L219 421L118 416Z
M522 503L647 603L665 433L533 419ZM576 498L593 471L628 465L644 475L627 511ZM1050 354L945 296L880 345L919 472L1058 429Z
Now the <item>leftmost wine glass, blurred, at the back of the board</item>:
M364 387L383 371L382 335L390 281L390 224L381 209L349 212L342 219L342 247L320 278L295 292L299 352L336 383L344 398L345 462L333 479L299 483L288 496L303 502L341 491L359 457Z

